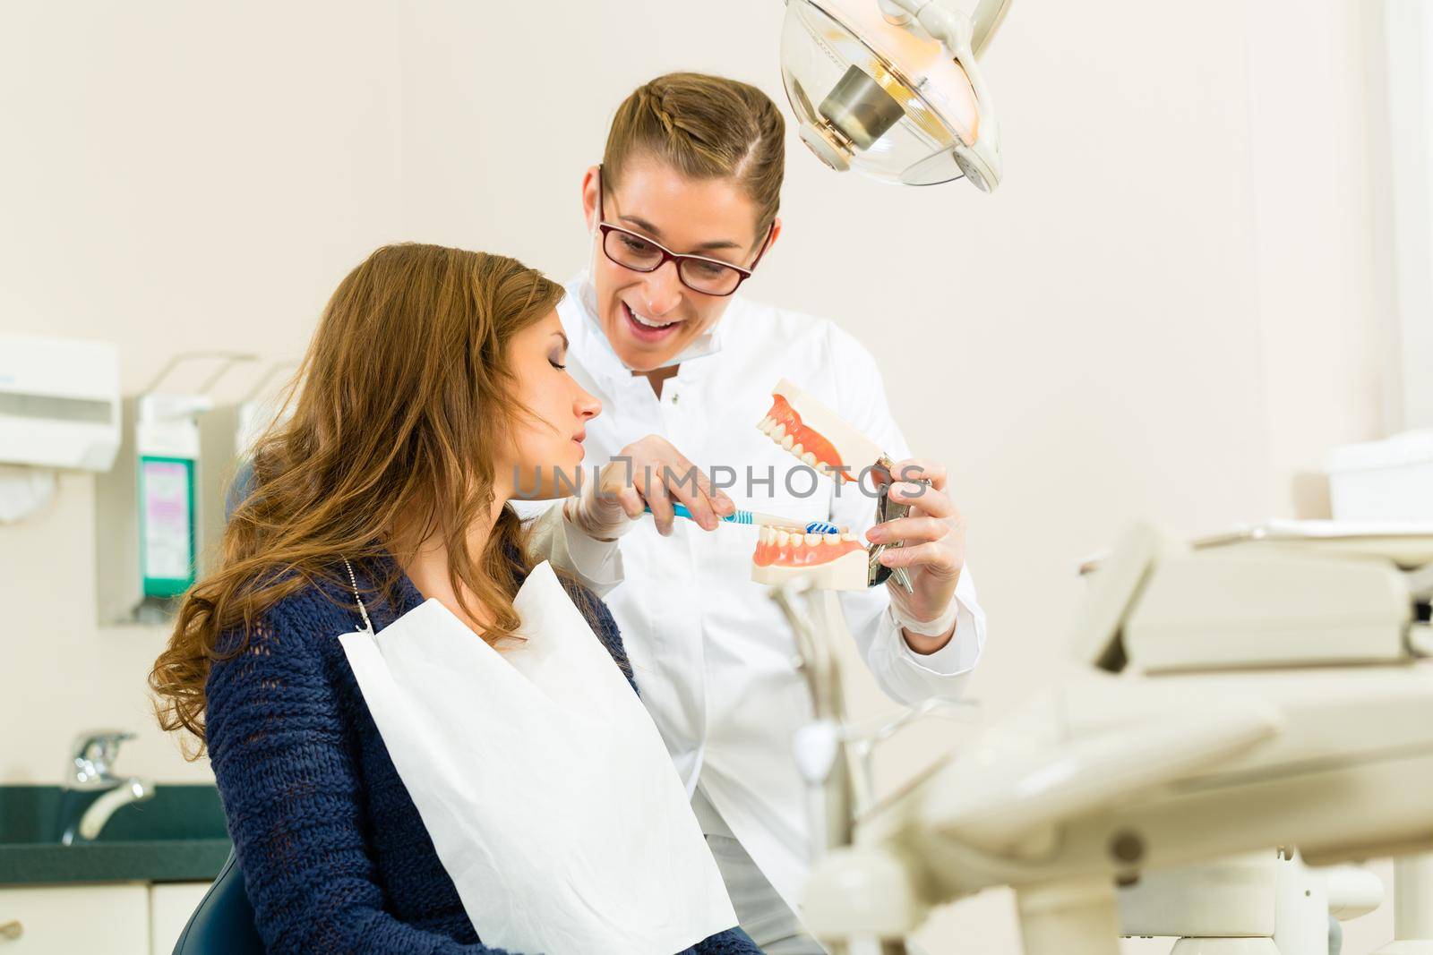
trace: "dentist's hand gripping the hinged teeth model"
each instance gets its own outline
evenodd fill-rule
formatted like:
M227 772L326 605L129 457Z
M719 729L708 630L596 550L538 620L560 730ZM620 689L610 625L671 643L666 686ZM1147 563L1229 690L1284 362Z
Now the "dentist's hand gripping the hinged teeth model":
M910 504L910 514L877 524L866 533L873 544L901 541L881 553L887 567L906 567L914 593L893 580L886 581L891 603L906 620L931 621L943 616L956 596L960 571L966 566L966 521L946 495L946 468L934 461L911 458L891 472L890 497ZM904 480L903 480L904 478ZM917 478L929 485L916 484ZM934 653L950 634L926 637L906 630L906 641L917 653Z

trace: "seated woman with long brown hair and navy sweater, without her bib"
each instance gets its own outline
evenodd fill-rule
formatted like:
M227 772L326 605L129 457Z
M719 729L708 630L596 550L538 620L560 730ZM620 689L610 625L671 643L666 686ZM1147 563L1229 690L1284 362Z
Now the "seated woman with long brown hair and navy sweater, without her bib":
M354 269L310 345L292 418L255 452L218 568L155 664L160 723L208 746L269 951L497 951L338 637L360 627L355 590L380 634L436 598L473 640L513 637L532 563L507 501L519 481L542 497L555 468L575 471L600 411L565 371L560 296L513 259L438 246L383 248ZM626 670L606 607L567 590ZM758 951L739 929L689 944Z

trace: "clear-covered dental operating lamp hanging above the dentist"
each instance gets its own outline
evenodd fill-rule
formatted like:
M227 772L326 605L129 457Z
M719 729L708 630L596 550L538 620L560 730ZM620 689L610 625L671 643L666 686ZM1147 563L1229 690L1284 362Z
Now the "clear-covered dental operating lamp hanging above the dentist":
M979 57L1010 0L787 0L781 80L821 162L881 182L1000 185L1000 127Z

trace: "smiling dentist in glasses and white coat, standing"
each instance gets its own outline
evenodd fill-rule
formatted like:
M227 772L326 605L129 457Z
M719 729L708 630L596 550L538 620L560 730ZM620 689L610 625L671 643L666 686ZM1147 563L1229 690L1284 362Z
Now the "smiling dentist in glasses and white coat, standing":
M960 696L984 643L946 471L910 458L870 354L830 321L731 295L781 235L782 156L781 113L744 83L671 74L619 107L602 166L582 179L592 263L557 312L569 371L608 408L588 427L588 461L631 467L613 461L608 493L588 481L566 520L537 525L549 537L537 547L605 594L742 928L771 955L821 951L794 913L811 840L791 737L810 697L788 624L749 581L757 528L718 527L732 500L685 481L689 468L734 475L749 510L904 541L883 560L909 568L913 594L890 583L841 594L897 702ZM838 494L757 430L784 377L884 448L897 474L923 470L930 487L891 490L914 505L909 517L871 528L871 497ZM674 520L674 503L695 520ZM652 518L636 520L645 507Z

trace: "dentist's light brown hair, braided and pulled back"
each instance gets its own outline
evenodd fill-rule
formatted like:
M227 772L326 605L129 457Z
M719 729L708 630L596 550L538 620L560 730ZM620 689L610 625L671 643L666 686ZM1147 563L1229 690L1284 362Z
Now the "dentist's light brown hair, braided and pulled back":
M781 206L785 122L748 83L705 73L668 73L618 106L602 153L603 189L636 157L653 156L688 179L734 179L757 206L757 242Z

